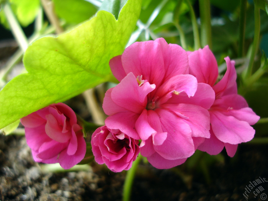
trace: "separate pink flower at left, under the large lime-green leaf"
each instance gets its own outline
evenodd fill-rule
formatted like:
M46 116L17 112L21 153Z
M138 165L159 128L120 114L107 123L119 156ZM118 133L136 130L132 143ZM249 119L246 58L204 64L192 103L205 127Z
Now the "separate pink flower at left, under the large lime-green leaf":
M36 162L59 163L69 169L85 156L86 143L75 112L57 103L21 118L26 142Z

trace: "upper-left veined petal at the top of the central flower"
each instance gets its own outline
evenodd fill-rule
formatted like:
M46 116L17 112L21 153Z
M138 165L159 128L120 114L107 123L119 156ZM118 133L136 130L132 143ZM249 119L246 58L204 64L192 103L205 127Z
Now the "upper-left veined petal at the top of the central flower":
M165 75L163 54L160 44L155 41L135 42L122 54L126 74L132 72L149 83L160 85Z

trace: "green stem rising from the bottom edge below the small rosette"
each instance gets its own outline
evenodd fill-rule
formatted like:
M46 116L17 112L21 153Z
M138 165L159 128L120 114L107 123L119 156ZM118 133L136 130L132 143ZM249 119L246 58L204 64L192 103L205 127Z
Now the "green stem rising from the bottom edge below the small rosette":
M132 184L135 177L137 167L142 159L142 155L138 155L137 159L133 161L132 167L127 171L125 183L123 187L123 201L129 201L131 197Z

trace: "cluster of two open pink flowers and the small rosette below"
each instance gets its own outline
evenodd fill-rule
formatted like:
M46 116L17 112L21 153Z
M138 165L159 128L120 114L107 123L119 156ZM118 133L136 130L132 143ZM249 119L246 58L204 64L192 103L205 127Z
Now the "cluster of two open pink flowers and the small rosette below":
M218 66L209 47L186 52L162 38L136 42L110 60L120 81L109 89L109 117L92 136L95 160L112 171L130 168L140 153L156 168L180 165L196 149L232 157L237 144L254 137L259 117L237 94L234 62L217 83ZM137 146L140 140L140 146Z

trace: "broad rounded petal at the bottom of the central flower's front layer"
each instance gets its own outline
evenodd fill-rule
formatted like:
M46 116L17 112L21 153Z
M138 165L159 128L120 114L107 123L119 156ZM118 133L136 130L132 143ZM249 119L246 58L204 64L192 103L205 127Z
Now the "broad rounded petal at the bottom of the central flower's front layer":
M168 110L157 109L155 111L160 117L163 131L168 133L162 145L154 145L155 151L169 160L191 156L195 149L190 126Z

